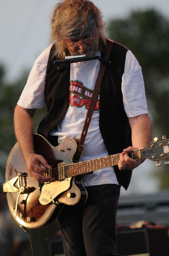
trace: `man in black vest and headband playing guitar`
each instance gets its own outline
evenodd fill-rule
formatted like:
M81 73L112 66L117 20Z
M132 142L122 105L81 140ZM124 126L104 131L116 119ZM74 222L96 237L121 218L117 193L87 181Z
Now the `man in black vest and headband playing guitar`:
M89 0L58 3L51 17L51 41L53 46L35 61L14 113L15 133L28 171L40 182L52 181L52 177L41 175L50 163L34 153L32 117L37 108L47 104L48 113L40 122L38 133L53 145L67 138L80 139L100 61L68 63L57 70L53 62L65 55L102 58L107 38L101 11ZM65 256L115 255L120 187L127 189L132 169L143 162L130 158L128 153L145 147L151 140L138 61L130 50L115 42L109 60L111 65L104 73L81 161L121 152L120 160L114 168L83 177L88 192L84 205L66 205L62 209L58 220Z

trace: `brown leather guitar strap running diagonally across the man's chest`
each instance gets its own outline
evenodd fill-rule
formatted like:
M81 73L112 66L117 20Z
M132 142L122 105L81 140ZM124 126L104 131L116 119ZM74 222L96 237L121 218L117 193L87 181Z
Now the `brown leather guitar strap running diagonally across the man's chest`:
M87 111L85 124L83 126L82 134L81 134L80 141L79 141L78 149L79 149L80 154L82 154L82 151L83 151L83 148L84 148L85 137L86 137L89 125L90 125L90 121L92 119L94 107L95 107L96 100L98 98L98 94L99 94L99 90L100 90L100 86L101 86L101 81L103 79L104 71L106 69L106 64L107 63L110 64L109 56L110 56L112 46L113 46L113 41L108 39L107 49L106 49L106 53L104 55L104 62L101 62L101 64L100 64L99 74L98 74L97 79L96 79L96 84L95 84L95 87L94 87L94 90L93 90L93 95L92 95L92 98L90 100L90 105L89 105L89 108L88 108L88 111Z

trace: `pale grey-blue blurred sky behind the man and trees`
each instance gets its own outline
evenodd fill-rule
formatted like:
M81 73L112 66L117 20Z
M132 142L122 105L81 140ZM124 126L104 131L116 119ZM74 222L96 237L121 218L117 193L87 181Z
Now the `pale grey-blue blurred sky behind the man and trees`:
M39 53L49 45L50 15L57 2L57 0L1 0L0 63L6 68L7 81L13 81L19 78L24 70L30 70ZM136 9L154 8L166 17L169 16L169 0L93 0L93 2L101 9L106 23L113 18L127 17ZM160 167L156 167L155 163L146 160L135 169L127 193L158 191L158 180L152 177L152 172L156 168L160 171Z

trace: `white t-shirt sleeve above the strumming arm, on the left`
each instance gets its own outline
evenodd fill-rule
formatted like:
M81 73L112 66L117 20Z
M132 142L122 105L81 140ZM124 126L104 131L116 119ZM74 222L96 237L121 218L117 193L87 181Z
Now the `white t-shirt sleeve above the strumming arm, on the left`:
M46 48L36 59L27 83L17 102L23 108L41 108L45 105L45 78L51 46Z

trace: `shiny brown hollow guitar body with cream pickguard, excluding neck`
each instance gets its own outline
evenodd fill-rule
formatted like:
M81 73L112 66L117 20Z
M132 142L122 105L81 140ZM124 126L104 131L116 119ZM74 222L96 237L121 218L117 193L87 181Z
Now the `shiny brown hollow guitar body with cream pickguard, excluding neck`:
M59 146L53 147L44 137L35 134L34 148L37 154L41 154L48 161L51 169L54 169L57 168L58 163L72 163L77 145L73 139L68 139ZM4 187L10 187L12 191L6 193L8 207L14 219L24 227L48 226L59 215L64 204L85 203L87 191L81 181L82 177L78 175L62 181L54 180L48 184L39 184L29 175L20 146L16 143L9 154L6 165ZM49 204L40 204L39 197L42 188L49 188L50 190L51 186L55 192L55 198ZM20 187L26 189L22 192Z

